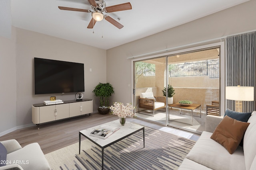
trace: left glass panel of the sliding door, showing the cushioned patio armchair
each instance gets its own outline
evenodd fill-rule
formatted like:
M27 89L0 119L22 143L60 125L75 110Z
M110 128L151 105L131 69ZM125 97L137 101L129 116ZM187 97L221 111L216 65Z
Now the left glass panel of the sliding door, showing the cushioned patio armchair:
M137 117L166 124L165 75L166 57L134 62Z

